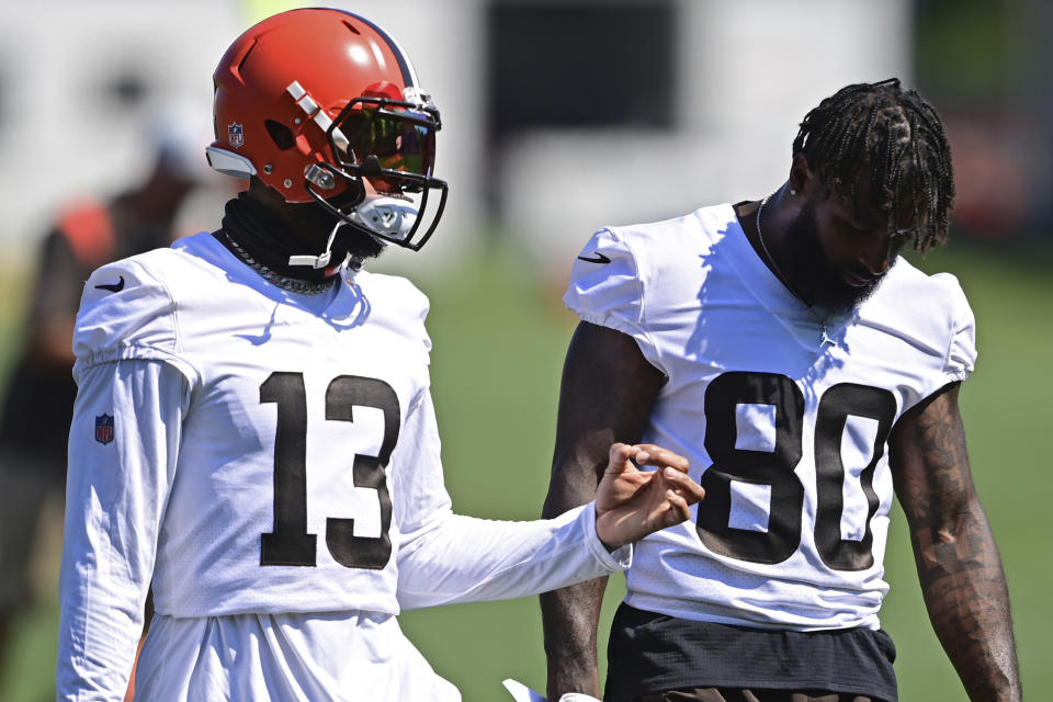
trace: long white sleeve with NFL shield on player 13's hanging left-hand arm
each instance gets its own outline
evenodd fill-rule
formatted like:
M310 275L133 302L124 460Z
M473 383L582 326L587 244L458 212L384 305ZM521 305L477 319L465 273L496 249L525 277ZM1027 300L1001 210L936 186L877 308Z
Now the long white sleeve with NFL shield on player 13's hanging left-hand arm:
M59 700L124 695L189 398L185 377L167 363L121 360L80 373L59 578Z

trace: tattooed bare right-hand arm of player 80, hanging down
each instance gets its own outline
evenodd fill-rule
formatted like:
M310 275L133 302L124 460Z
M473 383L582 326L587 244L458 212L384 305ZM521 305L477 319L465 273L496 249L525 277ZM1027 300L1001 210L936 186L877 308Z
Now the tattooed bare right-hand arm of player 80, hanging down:
M890 461L929 620L971 700L1021 699L1009 592L952 383L896 424Z

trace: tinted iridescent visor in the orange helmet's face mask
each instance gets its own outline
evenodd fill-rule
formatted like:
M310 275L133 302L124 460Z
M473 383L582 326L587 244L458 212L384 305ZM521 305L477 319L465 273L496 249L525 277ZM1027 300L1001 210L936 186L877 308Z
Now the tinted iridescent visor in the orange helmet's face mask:
M435 162L435 121L431 115L394 105L360 104L337 123L348 139L346 166L363 166L375 156L381 169L431 176Z

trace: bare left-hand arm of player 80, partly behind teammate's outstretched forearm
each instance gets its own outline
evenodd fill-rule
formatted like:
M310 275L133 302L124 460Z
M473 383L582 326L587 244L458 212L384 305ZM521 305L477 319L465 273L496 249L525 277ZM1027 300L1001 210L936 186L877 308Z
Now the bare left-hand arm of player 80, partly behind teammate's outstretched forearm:
M593 498L610 445L639 441L663 382L631 337L578 326L563 370L544 517ZM607 578L598 578L541 596L550 700L565 692L600 697L596 629L605 588Z

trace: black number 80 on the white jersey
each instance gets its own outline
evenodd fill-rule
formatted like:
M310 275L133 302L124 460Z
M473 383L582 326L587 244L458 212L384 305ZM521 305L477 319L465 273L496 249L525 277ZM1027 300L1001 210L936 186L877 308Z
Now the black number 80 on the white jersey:
M737 448L736 407L774 407L771 451ZM700 480L705 502L697 530L711 551L752 563L775 564L801 544L804 486L794 468L801 462L804 396L791 378L772 373L731 372L716 377L705 394L705 450L713 460ZM884 452L896 414L896 399L886 389L842 383L819 398L815 423L816 516L815 543L819 557L835 570L864 570L874 563L870 521L878 511L874 468ZM850 416L878 422L870 463L860 474L867 498L865 532L860 541L841 539L845 465L841 438ZM770 511L766 531L729 525L732 483L769 486Z

